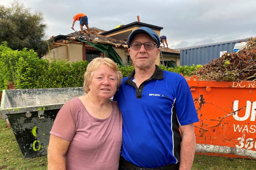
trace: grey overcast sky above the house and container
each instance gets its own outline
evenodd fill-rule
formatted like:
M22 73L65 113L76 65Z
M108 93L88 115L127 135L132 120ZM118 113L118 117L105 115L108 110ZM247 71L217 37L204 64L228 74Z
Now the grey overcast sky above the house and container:
M163 27L169 48L185 48L256 36L256 0L17 0L44 13L46 34L67 35L77 13L89 27L109 31L138 21ZM1 0L8 6L12 0ZM80 30L75 22L75 30ZM86 27L84 26L84 29Z

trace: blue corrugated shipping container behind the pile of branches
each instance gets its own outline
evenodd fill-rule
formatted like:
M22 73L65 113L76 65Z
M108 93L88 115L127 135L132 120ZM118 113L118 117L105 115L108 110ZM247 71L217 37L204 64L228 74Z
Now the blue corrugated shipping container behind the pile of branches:
M236 43L244 42L248 39L228 41L222 43L208 44L202 46L188 47L180 49L180 65L192 66L193 64L204 65L212 61L212 59L219 58L226 51L232 53Z

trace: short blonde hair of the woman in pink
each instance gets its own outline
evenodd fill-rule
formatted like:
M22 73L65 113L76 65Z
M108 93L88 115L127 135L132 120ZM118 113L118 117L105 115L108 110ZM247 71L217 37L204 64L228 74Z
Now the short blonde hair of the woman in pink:
M84 73L83 90L85 93L88 93L90 91L89 86L91 85L91 78L93 76L93 72L99 68L100 64L107 65L110 69L112 69L116 73L117 89L119 89L122 83L123 75L118 70L116 63L107 57L105 58L97 57L88 64L86 68L86 72Z

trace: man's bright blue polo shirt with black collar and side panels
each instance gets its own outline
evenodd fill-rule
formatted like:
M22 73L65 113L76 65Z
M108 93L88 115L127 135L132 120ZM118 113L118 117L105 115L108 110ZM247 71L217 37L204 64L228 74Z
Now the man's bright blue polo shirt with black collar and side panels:
M114 97L123 116L121 155L149 168L180 162L179 125L199 121L187 81L156 65L151 78L137 88L134 74L123 78Z

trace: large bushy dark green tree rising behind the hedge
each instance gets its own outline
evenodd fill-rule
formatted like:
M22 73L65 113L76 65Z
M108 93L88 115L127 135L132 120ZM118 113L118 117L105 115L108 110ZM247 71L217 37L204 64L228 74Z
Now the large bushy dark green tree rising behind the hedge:
M43 13L30 13L31 8L24 7L16 0L5 7L0 5L0 44L7 41L13 50L34 49L41 57L48 52Z

